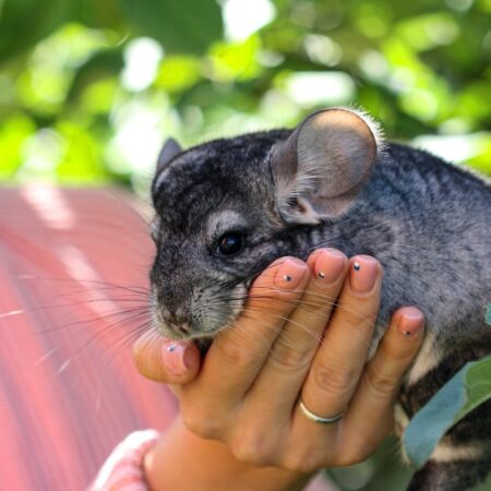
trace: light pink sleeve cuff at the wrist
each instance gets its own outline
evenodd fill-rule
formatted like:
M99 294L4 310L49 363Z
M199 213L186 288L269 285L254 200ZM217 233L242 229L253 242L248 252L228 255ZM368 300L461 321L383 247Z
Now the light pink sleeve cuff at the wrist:
M147 491L143 459L159 436L155 430L129 434L109 455L87 491Z

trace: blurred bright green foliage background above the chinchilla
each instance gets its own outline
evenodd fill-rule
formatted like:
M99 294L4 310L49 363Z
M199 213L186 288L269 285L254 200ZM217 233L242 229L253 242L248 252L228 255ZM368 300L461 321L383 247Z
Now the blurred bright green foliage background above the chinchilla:
M491 173L490 0L0 0L0 179L145 192L184 144L362 106Z

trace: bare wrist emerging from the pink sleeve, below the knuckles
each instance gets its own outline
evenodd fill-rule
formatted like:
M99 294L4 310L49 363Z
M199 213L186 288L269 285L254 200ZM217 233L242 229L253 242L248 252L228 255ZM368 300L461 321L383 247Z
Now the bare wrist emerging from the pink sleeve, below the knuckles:
M299 472L240 463L224 444L189 432L179 417L147 454L145 474L153 491L297 491L310 479Z

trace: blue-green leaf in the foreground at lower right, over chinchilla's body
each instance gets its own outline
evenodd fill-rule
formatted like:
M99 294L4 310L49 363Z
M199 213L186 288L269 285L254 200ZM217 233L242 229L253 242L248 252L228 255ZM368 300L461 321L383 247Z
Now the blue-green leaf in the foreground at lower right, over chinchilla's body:
M403 434L409 460L421 467L458 420L491 398L491 356L463 367L412 418Z

